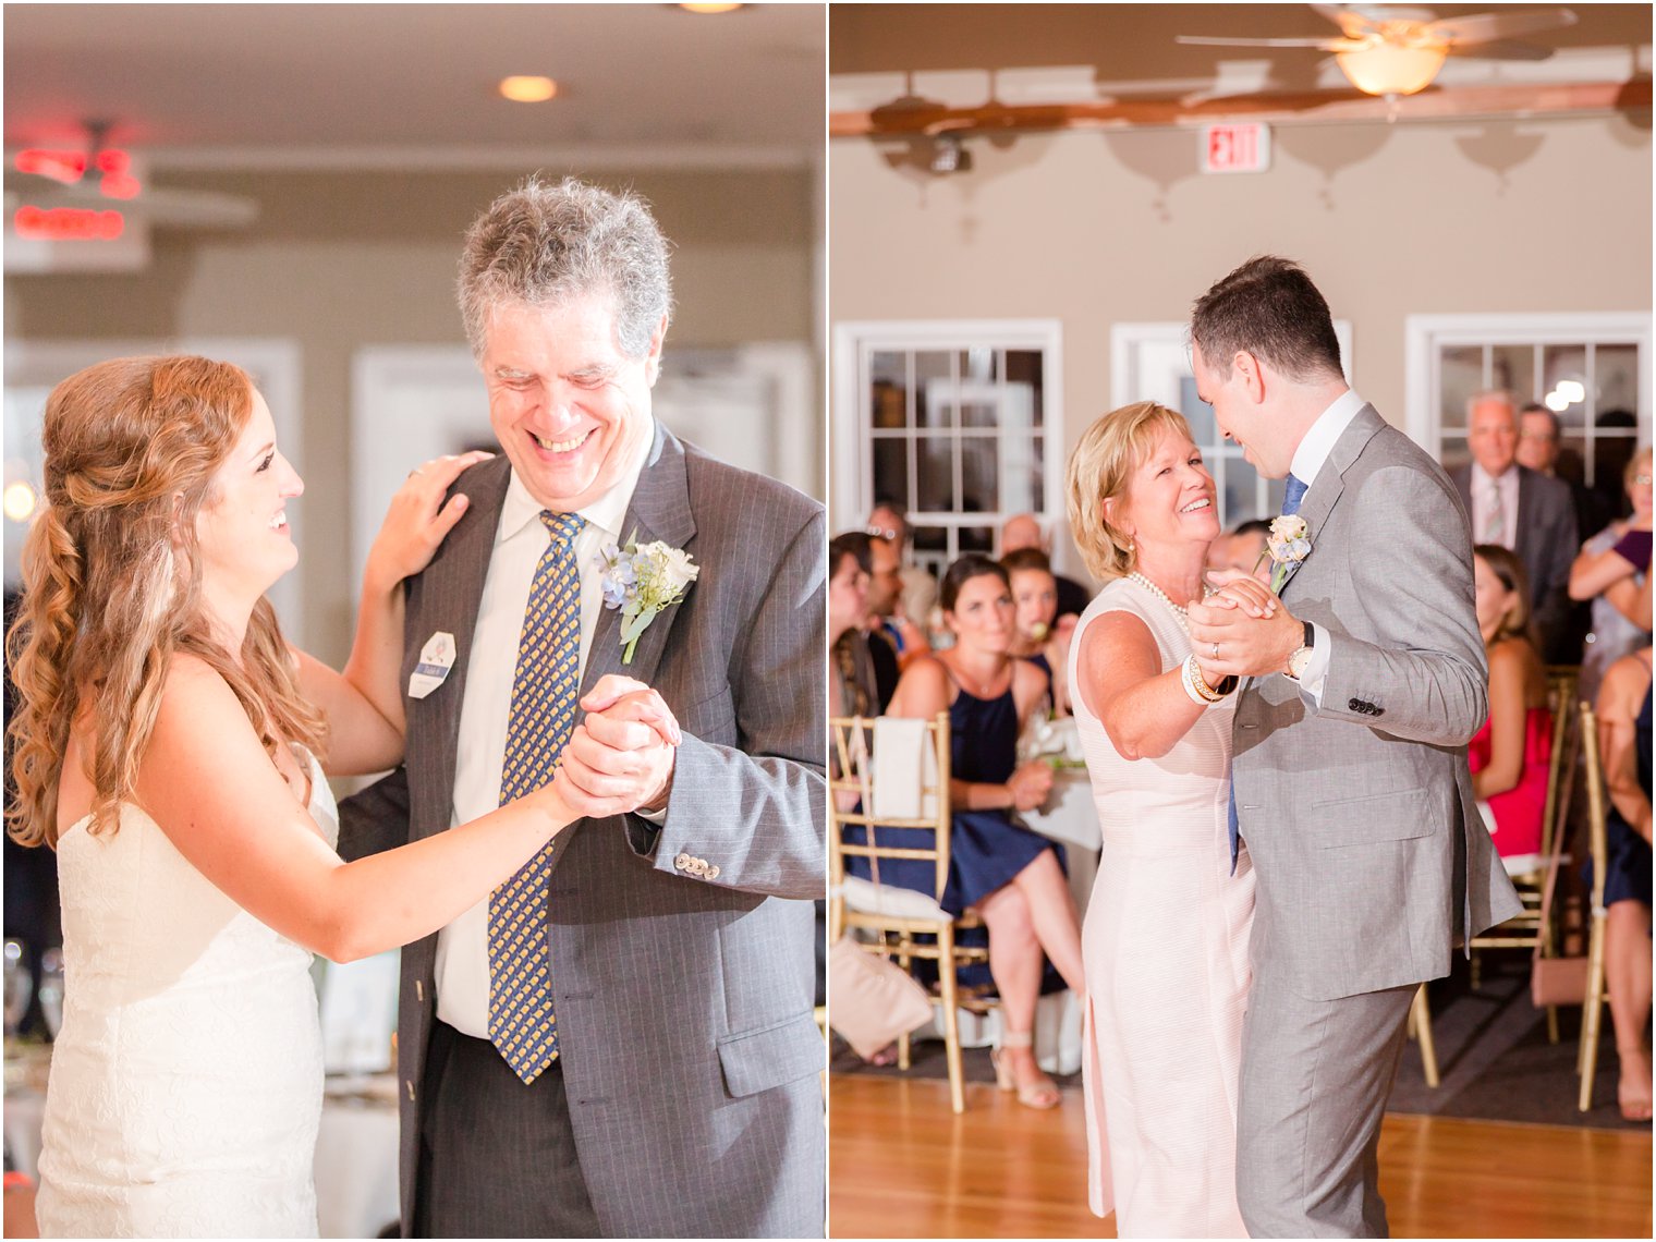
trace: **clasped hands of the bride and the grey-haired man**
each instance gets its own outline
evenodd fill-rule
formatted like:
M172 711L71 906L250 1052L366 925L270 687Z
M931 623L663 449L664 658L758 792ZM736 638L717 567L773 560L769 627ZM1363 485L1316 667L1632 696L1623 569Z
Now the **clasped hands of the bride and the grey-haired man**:
M586 719L575 725L558 762L558 792L570 810L586 816L662 810L684 740L662 697L611 672L598 679L581 707Z

